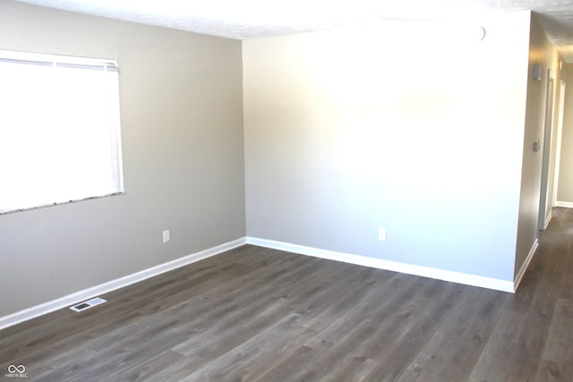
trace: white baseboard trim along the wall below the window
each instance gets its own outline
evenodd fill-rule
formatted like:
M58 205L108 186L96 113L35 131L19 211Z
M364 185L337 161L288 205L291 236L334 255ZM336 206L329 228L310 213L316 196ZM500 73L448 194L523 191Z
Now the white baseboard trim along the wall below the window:
M115 291L116 289L123 288L124 286L135 284L150 277L169 272L170 270L174 270L178 267L184 267L194 263L195 261L210 258L211 256L218 255L219 253L226 252L227 250L233 250L234 248L240 247L244 244L246 244L246 238L243 237L232 242L226 242L216 247L209 248L207 250L201 250L199 252L192 253L191 255L184 256L183 258L167 261L166 263L141 270L140 272L133 273L132 275L119 277L115 280L108 281L107 283L99 284L76 293L68 294L67 296L56 300L47 301L37 306L17 311L8 316L0 317L0 330L4 329L5 327L12 327L13 325L27 321L31 318L43 316L54 310L66 308L77 302L89 300L90 298L98 296L99 294L109 293Z

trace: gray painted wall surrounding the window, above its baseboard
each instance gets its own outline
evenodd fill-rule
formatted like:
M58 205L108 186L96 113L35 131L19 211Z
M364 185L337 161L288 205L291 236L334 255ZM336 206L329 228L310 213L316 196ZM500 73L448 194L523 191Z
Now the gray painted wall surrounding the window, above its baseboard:
M0 317L244 237L240 41L4 0L0 48L119 61L125 184L0 216Z

